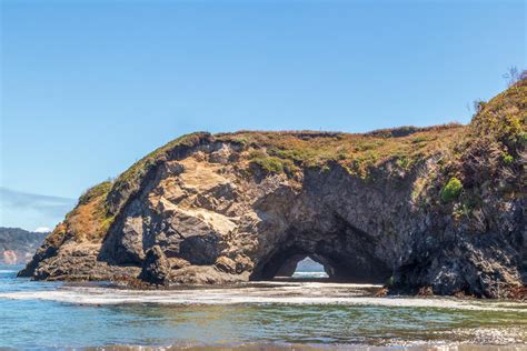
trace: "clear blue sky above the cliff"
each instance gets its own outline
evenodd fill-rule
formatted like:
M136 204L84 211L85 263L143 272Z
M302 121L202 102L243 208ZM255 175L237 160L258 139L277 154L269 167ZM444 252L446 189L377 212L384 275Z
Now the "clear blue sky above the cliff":
M183 133L468 123L527 67L524 1L0 6L0 225L26 229Z

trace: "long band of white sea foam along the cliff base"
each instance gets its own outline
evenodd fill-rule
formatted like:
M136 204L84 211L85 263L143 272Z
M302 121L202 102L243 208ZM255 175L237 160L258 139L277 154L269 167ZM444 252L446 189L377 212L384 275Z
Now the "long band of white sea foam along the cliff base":
M358 284L275 282L268 287L197 288L191 290L123 290L100 287L63 287L47 291L0 293L0 299L51 300L76 304L347 304L399 308L440 308L458 310L514 311L527 313L526 304L486 303L451 298L365 297Z

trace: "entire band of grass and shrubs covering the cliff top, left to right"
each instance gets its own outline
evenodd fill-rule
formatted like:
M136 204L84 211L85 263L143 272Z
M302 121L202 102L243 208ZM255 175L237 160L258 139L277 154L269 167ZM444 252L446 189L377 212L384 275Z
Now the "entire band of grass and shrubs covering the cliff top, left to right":
M317 131L239 131L211 136L197 132L182 136L152 151L113 181L88 190L68 215L67 224L53 231L56 239L71 234L99 240L118 214L126 198L140 187L152 167L182 157L205 142L228 142L247 150L249 164L269 173L295 176L301 168L325 169L338 163L350 174L367 178L387 162L406 172L419 161L438 158L438 171L417 179L412 198L428 205L475 209L480 205L483 182L496 190L521 195L525 164L527 80L523 79L489 102L477 104L471 124L456 123L430 128L401 127L369 133ZM463 192L461 192L463 190ZM118 200L111 197L120 197ZM112 202L119 202L111 208ZM458 205L459 208L459 205ZM77 234L76 234L77 233ZM81 235L79 233L82 233Z

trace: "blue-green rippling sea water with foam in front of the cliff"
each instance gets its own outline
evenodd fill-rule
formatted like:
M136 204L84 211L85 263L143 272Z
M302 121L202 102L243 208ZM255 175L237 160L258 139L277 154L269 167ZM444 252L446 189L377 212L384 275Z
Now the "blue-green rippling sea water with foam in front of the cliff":
M0 348L527 349L527 304L314 281L128 290L0 265ZM307 277L308 274L300 274Z

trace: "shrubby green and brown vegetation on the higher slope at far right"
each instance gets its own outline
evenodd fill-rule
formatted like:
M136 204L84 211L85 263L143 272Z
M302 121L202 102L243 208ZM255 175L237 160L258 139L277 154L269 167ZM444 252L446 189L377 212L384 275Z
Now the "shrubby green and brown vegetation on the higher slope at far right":
M477 231L497 228L504 201L525 197L526 122L526 79L478 102L467 132L439 160L437 172L416 182L417 202Z

